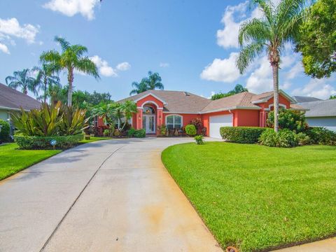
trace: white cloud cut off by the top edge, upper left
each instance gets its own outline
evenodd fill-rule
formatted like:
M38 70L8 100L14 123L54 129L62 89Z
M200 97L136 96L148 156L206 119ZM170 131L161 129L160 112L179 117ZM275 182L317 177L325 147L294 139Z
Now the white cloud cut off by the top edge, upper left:
M92 20L94 19L94 8L99 2L99 0L50 0L43 7L69 17L80 13L88 20Z

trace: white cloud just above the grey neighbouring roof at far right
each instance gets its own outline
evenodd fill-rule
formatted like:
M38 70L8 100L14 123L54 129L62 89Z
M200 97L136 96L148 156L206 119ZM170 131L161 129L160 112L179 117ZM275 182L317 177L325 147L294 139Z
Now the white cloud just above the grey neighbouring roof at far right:
M292 94L328 99L330 95L336 94L336 90L335 87L332 87L332 85L328 84L328 80L311 79L309 83L303 87L293 90Z

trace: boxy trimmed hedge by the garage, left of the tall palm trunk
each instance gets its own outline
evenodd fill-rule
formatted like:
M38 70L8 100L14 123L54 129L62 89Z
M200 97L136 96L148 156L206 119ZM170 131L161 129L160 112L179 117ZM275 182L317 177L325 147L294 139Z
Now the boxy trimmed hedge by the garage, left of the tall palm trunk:
M221 136L225 141L239 144L255 144L262 132L262 127L221 127Z

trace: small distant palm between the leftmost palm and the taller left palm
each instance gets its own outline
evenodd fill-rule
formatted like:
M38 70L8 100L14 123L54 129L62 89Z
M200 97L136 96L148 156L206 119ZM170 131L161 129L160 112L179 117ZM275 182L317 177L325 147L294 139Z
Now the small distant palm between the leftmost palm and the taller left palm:
M48 64L44 60L41 63L41 67L35 66L32 70L37 71L35 83L43 90L43 102L45 103L48 97L48 87L52 85L60 86L61 84L59 83L59 77L54 75L56 71L55 65Z

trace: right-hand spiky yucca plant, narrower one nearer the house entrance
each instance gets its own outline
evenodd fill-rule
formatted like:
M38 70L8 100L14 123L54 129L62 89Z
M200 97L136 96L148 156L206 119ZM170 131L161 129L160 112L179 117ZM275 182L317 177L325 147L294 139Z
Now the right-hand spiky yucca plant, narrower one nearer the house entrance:
M64 135L80 134L85 127L85 109L74 109L70 106L62 106L62 125L61 133Z

